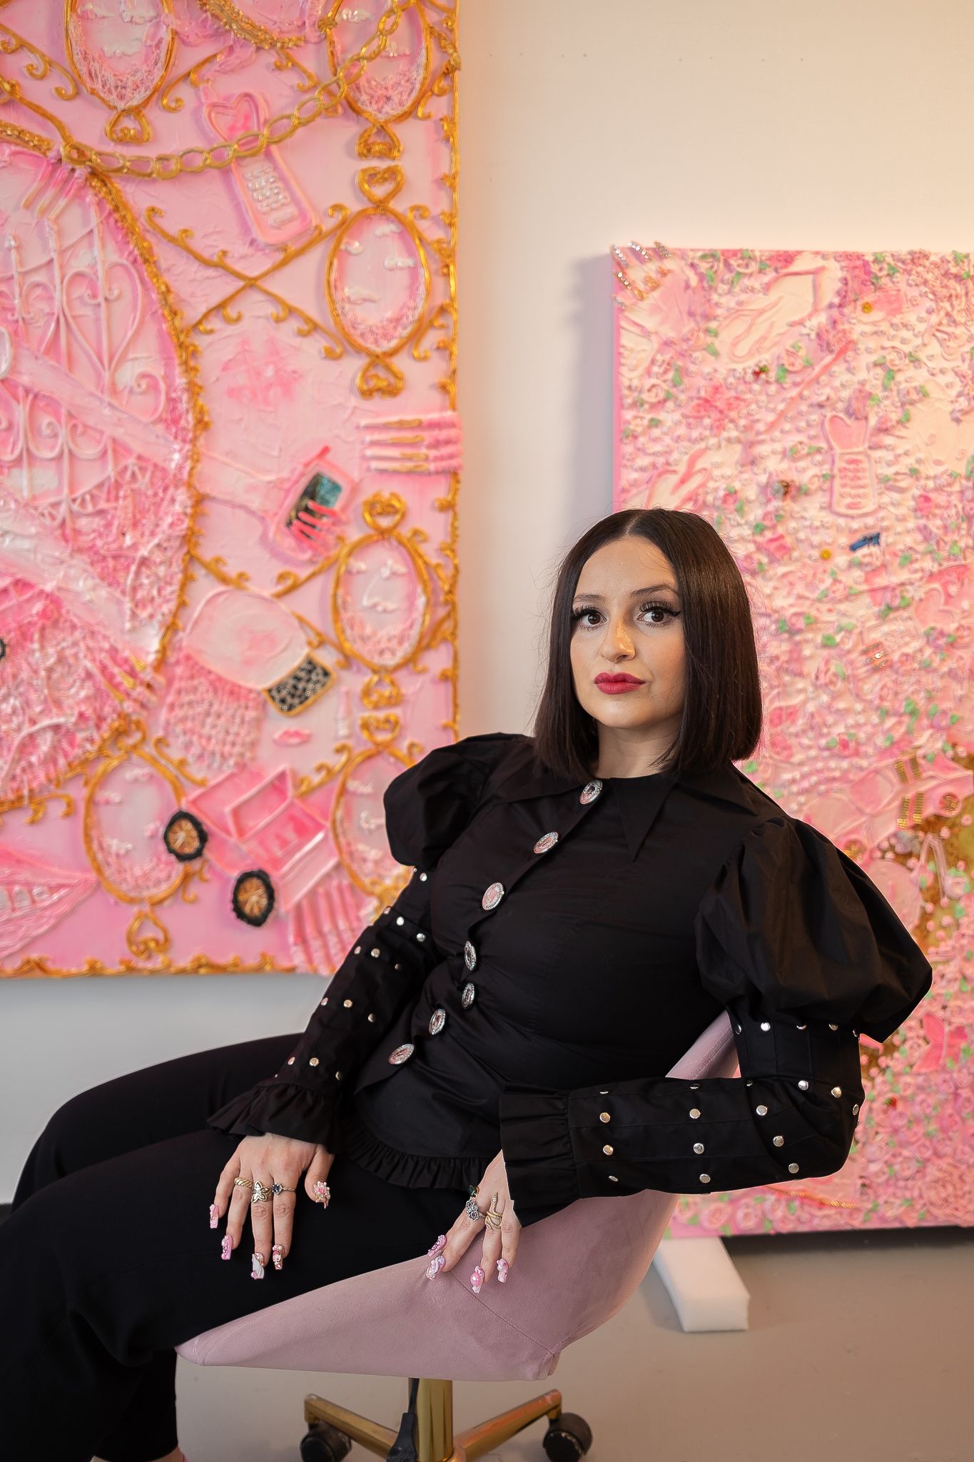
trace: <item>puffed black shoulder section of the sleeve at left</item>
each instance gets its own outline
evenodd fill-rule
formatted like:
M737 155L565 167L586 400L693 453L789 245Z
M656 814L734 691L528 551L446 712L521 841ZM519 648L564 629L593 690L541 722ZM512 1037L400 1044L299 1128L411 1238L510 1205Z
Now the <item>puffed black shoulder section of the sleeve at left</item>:
M532 737L485 731L434 746L386 788L386 835L399 863L429 868L466 827L494 784L530 754Z

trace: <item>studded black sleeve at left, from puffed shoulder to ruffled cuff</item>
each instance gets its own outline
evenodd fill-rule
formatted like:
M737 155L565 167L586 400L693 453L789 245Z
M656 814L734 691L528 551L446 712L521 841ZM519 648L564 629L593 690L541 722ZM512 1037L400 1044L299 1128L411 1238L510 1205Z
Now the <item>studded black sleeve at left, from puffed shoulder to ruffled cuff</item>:
M442 959L429 924L429 873L473 816L511 737L492 732L434 747L393 778L383 795L386 836L397 863L413 868L412 879L361 931L277 1075L221 1107L207 1118L210 1127L340 1151L343 1083Z

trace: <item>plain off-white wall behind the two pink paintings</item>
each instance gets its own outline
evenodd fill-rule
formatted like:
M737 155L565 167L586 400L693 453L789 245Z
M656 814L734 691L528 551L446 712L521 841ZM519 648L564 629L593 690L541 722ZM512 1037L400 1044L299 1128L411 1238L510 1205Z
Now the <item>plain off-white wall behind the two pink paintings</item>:
M461 0L461 732L530 727L610 512L610 243L971 249L968 0ZM93 1082L301 1029L312 977L6 981L0 1200Z

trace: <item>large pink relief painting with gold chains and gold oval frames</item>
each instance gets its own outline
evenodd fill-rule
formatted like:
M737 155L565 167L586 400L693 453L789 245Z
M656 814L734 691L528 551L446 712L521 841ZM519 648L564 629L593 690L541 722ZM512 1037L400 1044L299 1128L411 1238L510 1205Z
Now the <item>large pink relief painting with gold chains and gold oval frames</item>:
M0 974L330 974L456 703L456 15L7 0Z

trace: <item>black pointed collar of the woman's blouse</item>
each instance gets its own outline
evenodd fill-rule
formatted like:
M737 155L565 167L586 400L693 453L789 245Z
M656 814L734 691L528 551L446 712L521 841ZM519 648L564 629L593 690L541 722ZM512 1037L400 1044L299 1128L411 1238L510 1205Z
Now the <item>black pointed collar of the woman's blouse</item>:
M581 792L584 782L575 782L549 770L534 760L530 746L526 750L529 754L518 759L518 765L496 789L502 801L558 797L568 792L574 792L577 797ZM739 807L751 808L753 806L748 797L751 784L733 762L727 762L713 772L651 772L648 776L607 776L602 778L602 785L603 794L610 791L616 798L629 858L637 857L663 803L676 785L708 798L736 803Z

